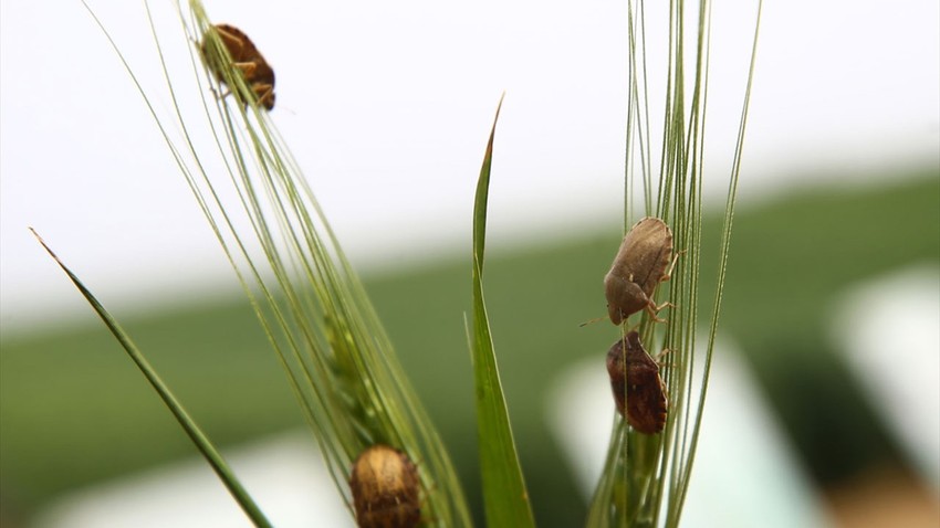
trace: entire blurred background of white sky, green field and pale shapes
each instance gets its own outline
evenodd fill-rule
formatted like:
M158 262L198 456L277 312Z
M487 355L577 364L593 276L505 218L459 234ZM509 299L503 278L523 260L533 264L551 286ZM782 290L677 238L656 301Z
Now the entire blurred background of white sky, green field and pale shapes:
M92 7L169 116L143 7ZM169 53L185 53L171 7L154 7ZM616 330L578 324L603 315L623 235L624 2L207 9L276 71L272 117L478 509L470 214L506 91L493 336L536 520L581 526L613 416L603 357ZM664 13L649 10L652 34ZM714 7L702 307L754 14L753 2ZM278 526L348 524L94 21L79 2L4 0L0 30L0 524L247 524L27 226L126 326ZM650 40L660 64L665 42ZM744 152L686 524L940 525L940 6L765 6Z

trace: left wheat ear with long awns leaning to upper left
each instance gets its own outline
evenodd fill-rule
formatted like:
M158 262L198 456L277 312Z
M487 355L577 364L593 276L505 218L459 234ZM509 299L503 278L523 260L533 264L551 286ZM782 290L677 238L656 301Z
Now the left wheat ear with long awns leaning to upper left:
M426 525L471 526L452 464L358 276L273 122L258 108L241 71L231 66L228 51L210 31L201 2L190 0L186 9L177 4L182 36L195 44L189 62L194 89L202 94L201 116L185 115L180 109L177 95L184 88L169 74L169 57L164 55L149 4L145 6L176 110L174 118L154 109L152 97L118 46L94 13L92 17L137 86L231 263L347 508L353 510L346 485L353 461L366 447L385 443L417 462ZM207 42L206 56L197 47L201 42ZM231 97L207 96L209 86L211 93L223 92L209 72L209 63L222 66L221 77L232 88ZM174 128L181 130L181 139L171 137ZM206 128L215 145L197 148L190 130ZM211 172L208 167L212 162L222 171ZM233 203L220 198L232 192L237 197ZM240 220L247 220L250 228L237 228ZM263 250L264 260L251 256L254 245ZM227 485L234 478L220 476ZM267 522L252 519L259 526Z

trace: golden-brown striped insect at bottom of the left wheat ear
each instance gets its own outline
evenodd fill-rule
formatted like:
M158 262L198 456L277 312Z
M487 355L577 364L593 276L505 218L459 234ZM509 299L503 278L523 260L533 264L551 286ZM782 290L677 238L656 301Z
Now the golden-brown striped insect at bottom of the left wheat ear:
M376 444L362 452L349 488L359 528L412 528L421 519L418 468L396 448Z

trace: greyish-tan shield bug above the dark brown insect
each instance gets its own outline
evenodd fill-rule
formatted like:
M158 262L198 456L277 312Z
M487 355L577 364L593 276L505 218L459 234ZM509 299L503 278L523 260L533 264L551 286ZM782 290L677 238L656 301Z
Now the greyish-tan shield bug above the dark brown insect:
M669 279L671 258L672 230L666 222L646 217L630 228L604 277L607 313L615 325L644 308L654 319L664 320L656 314L670 304L656 306L652 292L659 283Z

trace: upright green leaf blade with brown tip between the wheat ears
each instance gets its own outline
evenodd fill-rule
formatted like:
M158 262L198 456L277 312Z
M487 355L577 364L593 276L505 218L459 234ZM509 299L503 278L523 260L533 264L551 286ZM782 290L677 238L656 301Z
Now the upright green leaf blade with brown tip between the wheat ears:
M497 131L502 98L487 144L477 200L473 205L473 382L477 392L477 436L480 471L488 526L534 527L529 494L522 478L515 442L509 424L502 384L500 383L487 305L483 300L483 250L487 239L487 198L490 167L493 161L493 137Z

